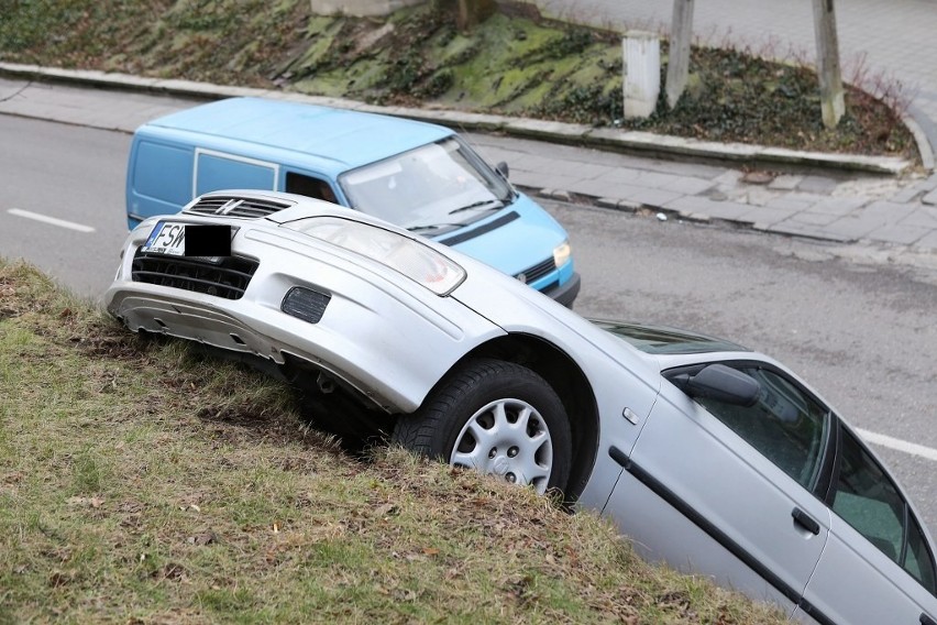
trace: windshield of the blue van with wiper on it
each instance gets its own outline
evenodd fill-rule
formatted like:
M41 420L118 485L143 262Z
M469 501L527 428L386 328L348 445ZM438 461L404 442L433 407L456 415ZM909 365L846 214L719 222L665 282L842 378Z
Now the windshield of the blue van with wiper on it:
M359 167L339 184L352 208L412 230L475 221L510 204L515 193L458 136Z

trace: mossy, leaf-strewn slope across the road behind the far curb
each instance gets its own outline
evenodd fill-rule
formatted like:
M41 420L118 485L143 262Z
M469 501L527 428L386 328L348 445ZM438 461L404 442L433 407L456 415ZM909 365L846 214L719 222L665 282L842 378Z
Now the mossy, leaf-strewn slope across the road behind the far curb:
M816 75L795 64L696 48L676 109L621 120L616 33L506 14L460 33L426 7L386 22L309 10L307 0L21 0L0 20L0 59L916 157L907 129L859 90L847 91L839 127L825 130ZM877 87L906 105L900 85Z

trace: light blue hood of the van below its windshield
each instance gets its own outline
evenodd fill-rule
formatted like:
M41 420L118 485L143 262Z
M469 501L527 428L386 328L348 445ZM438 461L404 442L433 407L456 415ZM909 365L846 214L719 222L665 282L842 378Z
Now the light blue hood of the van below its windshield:
M566 232L559 222L523 194L466 230L436 239L470 256L484 257L508 275L552 259L553 249L565 240Z

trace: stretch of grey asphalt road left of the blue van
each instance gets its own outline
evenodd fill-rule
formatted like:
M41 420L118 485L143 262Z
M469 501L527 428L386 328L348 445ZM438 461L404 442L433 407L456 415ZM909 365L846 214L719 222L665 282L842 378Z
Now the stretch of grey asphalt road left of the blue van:
M0 116L0 255L98 298L126 235L130 135Z

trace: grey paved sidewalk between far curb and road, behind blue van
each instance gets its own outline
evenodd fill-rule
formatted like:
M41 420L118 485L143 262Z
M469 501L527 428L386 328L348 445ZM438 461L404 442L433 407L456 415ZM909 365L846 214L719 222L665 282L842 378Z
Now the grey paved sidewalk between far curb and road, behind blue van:
M196 99L251 95L430 118L470 131L484 156L509 163L511 180L533 195L657 213L660 219L724 221L785 235L859 243L874 248L886 260L901 256L903 262L912 259L937 266L937 175L882 176L819 168L746 174L741 165L608 151L608 138L596 141L591 129L574 124L379 109L283 91L93 72L30 68L25 75L55 80L0 78L0 113L132 132L143 121L192 106ZM126 92L115 97L101 86ZM154 98L154 94L170 97ZM499 132L474 132L493 129Z

